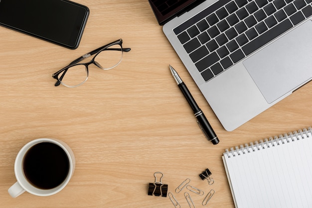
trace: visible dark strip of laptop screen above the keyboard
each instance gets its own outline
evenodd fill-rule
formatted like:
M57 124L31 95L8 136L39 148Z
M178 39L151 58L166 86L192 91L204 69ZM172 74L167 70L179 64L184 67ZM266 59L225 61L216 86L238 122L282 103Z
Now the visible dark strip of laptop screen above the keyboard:
M163 25L184 11L198 5L203 0L149 0L156 19Z

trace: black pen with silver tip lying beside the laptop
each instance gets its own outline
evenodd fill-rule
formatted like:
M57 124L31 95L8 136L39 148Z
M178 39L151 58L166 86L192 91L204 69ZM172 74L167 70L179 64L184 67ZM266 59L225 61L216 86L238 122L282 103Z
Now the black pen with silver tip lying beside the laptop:
M181 80L181 78L176 73L176 71L170 65L169 65L169 68L170 68L171 74L172 74L177 86L180 88L180 90L183 93L188 104L191 106L192 110L194 111L194 115L197 118L197 124L201 128L202 132L207 137L207 139L212 142L212 144L218 144L219 139L218 139L217 135L215 134L215 132L213 131L211 125L209 124L206 116L201 111L201 109L198 107L193 96L188 91L186 85Z

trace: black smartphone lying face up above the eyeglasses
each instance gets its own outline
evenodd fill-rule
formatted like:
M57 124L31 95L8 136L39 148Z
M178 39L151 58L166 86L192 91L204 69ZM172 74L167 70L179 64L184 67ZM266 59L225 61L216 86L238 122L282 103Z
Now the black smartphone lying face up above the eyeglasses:
M76 49L89 15L69 0L0 0L0 25Z

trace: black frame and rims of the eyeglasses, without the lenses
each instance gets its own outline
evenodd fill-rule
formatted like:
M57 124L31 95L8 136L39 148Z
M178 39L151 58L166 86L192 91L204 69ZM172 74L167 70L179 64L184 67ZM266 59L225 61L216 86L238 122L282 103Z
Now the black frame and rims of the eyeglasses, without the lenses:
M59 86L60 84L62 84L62 85L64 85L65 87L68 87L68 88L75 88L75 87L78 87L78 86L82 85L83 83L85 83L85 82L88 80L88 76L89 76L89 68L88 68L88 66L89 66L90 64L94 64L95 66L97 66L97 67L99 67L100 69L103 69L103 70L110 70L110 69L113 69L114 67L116 67L117 65L119 65L119 64L121 63L122 58L123 58L123 52L129 52L129 51L131 50L131 48L123 48L122 44L123 44L123 40L122 40L122 39L119 39L119 40L116 40L116 41L114 41L114 42L111 42L111 43L109 43L109 44L107 44L107 45L104 45L104 46L102 46L102 47L100 47L100 48L98 48L98 49L95 49L95 50L93 50L93 51L91 51L91 52L89 52L89 53L87 53L87 54L85 54L85 55L79 57L78 59L74 60L73 62L71 62L70 64L68 64L68 65L67 65L66 67L64 67L63 69L61 69L61 70L55 72L54 74L52 74L52 77L53 77L54 79L57 80L57 82L55 83L54 86L57 87L57 86ZM113 45L120 45L121 49L119 49L119 48L108 48L108 47L111 47L111 46L113 46ZM104 51L104 50L115 50L115 51L116 51L116 50L118 50L118 51L121 50L121 51L122 51L122 56L121 56L120 61L119 61L116 65L114 65L113 67L111 67L111 68L103 68L103 67L99 66L94 60L95 60L96 56L97 56L100 52L102 52L102 51ZM80 61L82 61L82 60L84 60L84 59L86 59L86 58L88 58L88 57L90 57L90 56L93 56L93 55L95 55L95 56L92 58L91 61L89 61L89 62L87 62L87 63L79 63ZM79 64L78 64L78 63L79 63ZM85 79L82 83L80 83L80 84L78 84L78 85L75 85L75 86L69 86L69 85L66 85L66 84L62 83L62 79L63 79L63 77L65 76L67 70L68 70L70 67L73 67L73 66L76 66L76 65L84 65L84 66L86 67L86 73L87 73L86 79ZM66 71L65 71L65 70L66 70ZM64 72L64 71L65 71L65 72ZM61 75L60 78L58 78L58 75L59 75L60 73L62 73L62 72L64 72L64 73Z

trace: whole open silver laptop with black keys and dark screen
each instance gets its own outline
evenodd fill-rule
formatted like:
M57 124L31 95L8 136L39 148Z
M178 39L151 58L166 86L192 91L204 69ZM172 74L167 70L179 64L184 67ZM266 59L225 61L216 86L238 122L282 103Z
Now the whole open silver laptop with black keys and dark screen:
M312 80L312 0L149 0L232 131Z

